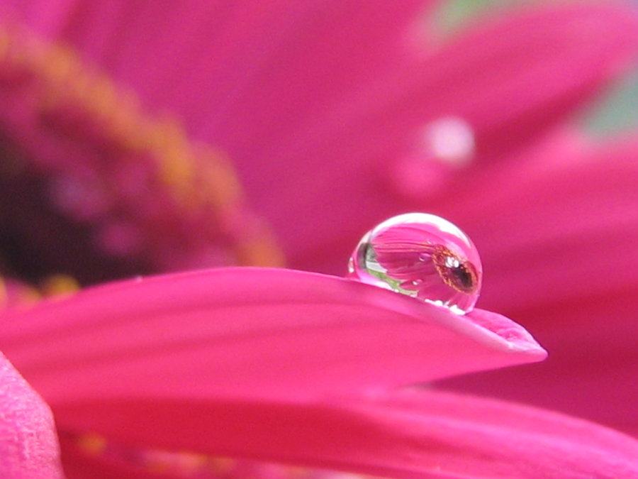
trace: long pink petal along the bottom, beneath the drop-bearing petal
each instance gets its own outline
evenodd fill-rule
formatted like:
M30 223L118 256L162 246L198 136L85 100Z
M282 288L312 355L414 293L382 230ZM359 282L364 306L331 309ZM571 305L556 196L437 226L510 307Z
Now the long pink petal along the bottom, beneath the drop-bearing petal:
M236 400L96 401L61 424L128 444L393 478L615 478L638 474L638 442L506 402L404 391L321 404ZM206 420L202 420L206 418Z

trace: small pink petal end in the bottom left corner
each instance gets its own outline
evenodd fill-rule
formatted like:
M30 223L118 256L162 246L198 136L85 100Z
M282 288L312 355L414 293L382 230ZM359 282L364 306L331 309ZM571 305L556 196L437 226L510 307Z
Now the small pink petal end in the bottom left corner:
M0 477L62 478L51 411L1 353Z

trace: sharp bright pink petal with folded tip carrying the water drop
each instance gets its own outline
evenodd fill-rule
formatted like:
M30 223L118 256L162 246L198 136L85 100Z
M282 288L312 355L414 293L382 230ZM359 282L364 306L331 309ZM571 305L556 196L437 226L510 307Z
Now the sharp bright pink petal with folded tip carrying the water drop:
M95 397L310 397L542 360L498 314L370 285L228 268L95 288L8 315L0 346L50 404Z

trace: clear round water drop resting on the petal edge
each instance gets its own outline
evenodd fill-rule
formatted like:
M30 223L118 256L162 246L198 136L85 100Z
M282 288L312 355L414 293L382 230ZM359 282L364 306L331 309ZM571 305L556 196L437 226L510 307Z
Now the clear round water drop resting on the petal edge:
M425 213L394 216L366 233L349 277L457 314L474 309L483 268L474 243L449 221Z

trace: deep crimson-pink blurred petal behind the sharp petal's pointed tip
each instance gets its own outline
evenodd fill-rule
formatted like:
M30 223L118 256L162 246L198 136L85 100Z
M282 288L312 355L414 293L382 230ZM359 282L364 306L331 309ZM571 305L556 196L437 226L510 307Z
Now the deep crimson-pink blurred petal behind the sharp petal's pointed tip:
M439 386L568 412L638 436L635 290L530 309L522 317L552 351L541 368L480 373Z

